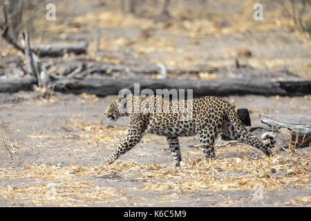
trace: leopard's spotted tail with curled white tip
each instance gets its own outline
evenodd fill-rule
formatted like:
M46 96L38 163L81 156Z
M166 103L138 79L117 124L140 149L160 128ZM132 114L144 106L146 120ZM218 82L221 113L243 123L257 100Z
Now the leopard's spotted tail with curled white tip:
M275 135L269 132L264 133L261 136L261 139L262 140L270 139L270 143L263 144L263 142L261 142L261 140L258 140L258 138L255 135L247 131L245 126L242 124L241 120L238 119L238 115L236 111L234 110L234 106L232 106L231 104L228 104L228 108L226 112L227 112L227 117L229 118L230 122L234 126L234 130L238 133L238 135L240 135L240 139L242 142L258 148L258 150L263 151L263 153L265 153L265 155L267 156L272 155L272 148L274 148L275 140L276 140Z

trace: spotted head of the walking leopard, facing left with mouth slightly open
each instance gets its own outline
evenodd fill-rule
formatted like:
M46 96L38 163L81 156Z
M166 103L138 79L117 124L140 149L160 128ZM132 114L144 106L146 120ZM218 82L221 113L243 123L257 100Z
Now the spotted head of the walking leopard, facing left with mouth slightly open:
M109 102L104 113L112 122L116 122L119 117L127 115L126 112L126 94L123 94Z

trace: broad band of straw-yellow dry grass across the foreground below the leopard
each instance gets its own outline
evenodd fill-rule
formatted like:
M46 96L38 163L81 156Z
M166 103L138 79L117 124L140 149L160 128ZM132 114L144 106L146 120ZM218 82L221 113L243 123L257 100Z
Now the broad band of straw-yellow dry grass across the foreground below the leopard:
M147 180L142 191L209 191L256 190L258 184L265 190L282 190L288 185L310 188L310 152L305 155L285 157L263 157L249 160L235 157L221 160L187 160L180 169L167 164L139 164L120 162L110 166L69 165L64 167L46 164L29 165L23 169L14 167L0 169L0 179L33 178L41 180L37 184L17 184L1 186L0 196L21 200L28 205L82 206L87 203L106 203L120 201L123 190L103 188L93 182L77 181L81 177L90 177L126 171L138 172L137 178ZM230 171L243 171L242 175L230 175ZM278 173L282 175L278 175ZM46 180L45 183L42 181ZM52 187L54 186L54 189ZM122 195L122 194L121 194ZM171 198L167 195L164 198ZM159 198L159 200L165 200ZM176 198L179 198L176 195ZM124 198L125 200L126 198ZM310 197L293 200L295 204L310 204Z

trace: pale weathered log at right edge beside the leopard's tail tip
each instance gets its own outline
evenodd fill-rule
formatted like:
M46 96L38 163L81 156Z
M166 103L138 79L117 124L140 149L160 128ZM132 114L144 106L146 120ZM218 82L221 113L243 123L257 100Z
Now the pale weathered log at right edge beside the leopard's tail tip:
M276 128L292 131L292 143L311 145L311 115L259 115L261 122Z

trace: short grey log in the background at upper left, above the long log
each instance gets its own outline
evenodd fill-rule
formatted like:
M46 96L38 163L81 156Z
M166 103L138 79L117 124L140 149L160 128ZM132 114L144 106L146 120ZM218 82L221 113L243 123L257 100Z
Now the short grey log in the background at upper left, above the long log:
M79 41L75 44L50 44L50 45L33 45L32 50L39 57L62 57L66 53L75 55L86 54L88 43Z

